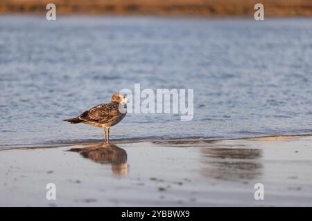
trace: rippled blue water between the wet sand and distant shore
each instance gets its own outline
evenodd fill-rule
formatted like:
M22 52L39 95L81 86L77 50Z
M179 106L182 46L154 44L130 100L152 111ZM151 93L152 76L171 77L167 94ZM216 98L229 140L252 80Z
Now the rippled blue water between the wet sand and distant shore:
M121 88L194 88L194 117L128 114L112 139L311 133L312 19L0 17L0 143L101 139L62 119Z

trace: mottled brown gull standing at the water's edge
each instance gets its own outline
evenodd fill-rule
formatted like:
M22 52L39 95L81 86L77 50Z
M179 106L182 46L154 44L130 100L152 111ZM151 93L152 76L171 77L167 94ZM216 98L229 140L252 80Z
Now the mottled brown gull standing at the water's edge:
M107 144L110 140L110 126L118 124L127 113L127 103L129 100L120 93L112 95L109 104L98 104L89 111L85 111L76 118L64 119L65 122L71 124L85 123L92 126L103 127L104 129L104 142ZM121 108L121 111L119 110ZM107 128L107 133L106 133Z

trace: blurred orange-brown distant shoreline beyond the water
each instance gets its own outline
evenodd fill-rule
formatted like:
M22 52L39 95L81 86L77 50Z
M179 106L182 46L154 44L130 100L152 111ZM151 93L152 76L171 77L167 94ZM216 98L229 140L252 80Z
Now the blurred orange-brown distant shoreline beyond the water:
M0 1L1 14L45 15L48 0ZM253 17L255 0L55 0L58 15L157 15L195 17ZM312 16L312 2L261 1L266 17L309 17Z

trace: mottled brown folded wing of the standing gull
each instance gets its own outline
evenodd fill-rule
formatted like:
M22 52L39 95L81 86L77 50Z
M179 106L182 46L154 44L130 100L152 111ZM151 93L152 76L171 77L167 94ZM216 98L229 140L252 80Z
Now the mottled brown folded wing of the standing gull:
M101 124L120 115L118 104L99 104L78 116L83 121L94 121Z

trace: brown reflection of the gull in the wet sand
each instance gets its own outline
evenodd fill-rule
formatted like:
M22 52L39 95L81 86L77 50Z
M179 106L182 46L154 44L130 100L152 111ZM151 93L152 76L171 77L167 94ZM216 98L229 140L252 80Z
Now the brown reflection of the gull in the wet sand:
M71 148L69 151L80 153L99 164L112 164L115 174L128 173L127 152L114 144L94 144L87 148Z

